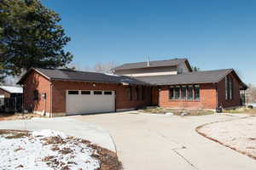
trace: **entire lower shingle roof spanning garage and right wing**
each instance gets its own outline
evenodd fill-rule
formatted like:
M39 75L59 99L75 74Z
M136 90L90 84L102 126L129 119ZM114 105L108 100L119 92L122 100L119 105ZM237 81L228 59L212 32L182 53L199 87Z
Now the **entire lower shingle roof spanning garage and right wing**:
M233 69L215 71L187 72L177 75L152 76L152 77L126 77L110 75L96 72L70 71L61 69L31 69L43 74L44 77L55 80L84 81L84 82L106 82L106 83L126 83L134 85L181 85L196 83L220 82L226 75L234 71ZM27 71L18 84L22 84L30 71ZM234 71L236 74L236 72ZM236 77L241 82L240 78ZM247 89L247 85L241 82L241 87Z

